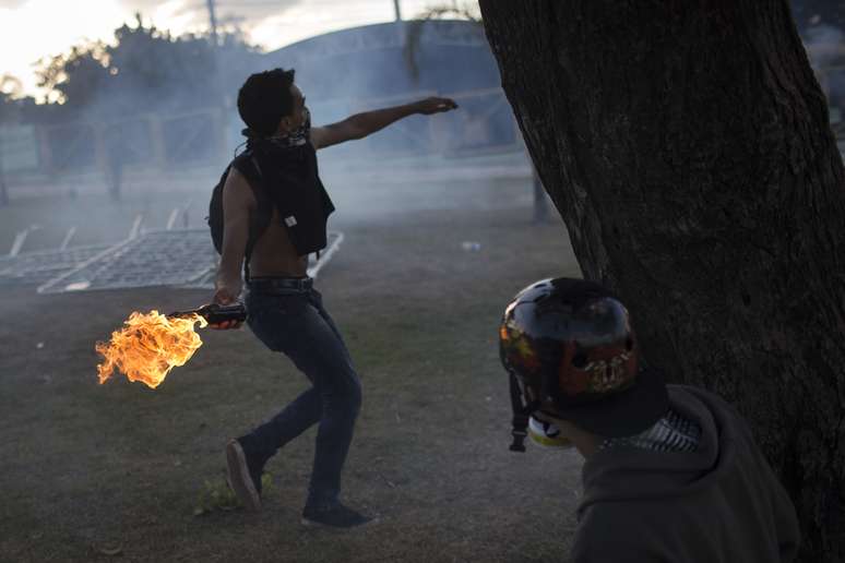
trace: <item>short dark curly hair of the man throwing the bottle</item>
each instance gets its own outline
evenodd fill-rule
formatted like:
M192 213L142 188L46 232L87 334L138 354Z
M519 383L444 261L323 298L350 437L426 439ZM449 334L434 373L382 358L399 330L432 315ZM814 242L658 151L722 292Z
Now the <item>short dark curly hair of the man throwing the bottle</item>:
M283 117L294 112L294 69L273 69L250 74L238 91L238 113L249 129L272 135Z

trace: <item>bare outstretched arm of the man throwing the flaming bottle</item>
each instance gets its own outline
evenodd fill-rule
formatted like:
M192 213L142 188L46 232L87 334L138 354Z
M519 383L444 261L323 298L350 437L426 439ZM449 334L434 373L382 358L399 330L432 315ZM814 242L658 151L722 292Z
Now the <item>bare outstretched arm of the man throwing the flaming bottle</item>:
M311 128L311 143L314 145L314 148L325 148L344 141L364 139L400 119L415 113L430 116L431 113L450 111L455 108L457 108L457 104L453 99L432 97L404 106L365 111L331 125Z

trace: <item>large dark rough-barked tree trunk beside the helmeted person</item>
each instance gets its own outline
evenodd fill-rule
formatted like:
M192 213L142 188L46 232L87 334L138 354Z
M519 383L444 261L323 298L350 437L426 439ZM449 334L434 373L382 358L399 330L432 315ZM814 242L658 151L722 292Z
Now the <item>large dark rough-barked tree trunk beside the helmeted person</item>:
M646 357L735 403L845 558L845 184L786 0L481 0L584 276Z

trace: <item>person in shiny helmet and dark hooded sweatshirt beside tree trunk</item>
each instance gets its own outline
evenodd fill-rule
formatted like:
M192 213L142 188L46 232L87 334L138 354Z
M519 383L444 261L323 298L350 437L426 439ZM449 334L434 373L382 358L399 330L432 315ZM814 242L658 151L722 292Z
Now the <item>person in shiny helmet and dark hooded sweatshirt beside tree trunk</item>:
M628 310L599 284L537 282L499 327L511 450L532 436L584 457L572 558L582 562L793 561L795 507L724 399L666 385Z

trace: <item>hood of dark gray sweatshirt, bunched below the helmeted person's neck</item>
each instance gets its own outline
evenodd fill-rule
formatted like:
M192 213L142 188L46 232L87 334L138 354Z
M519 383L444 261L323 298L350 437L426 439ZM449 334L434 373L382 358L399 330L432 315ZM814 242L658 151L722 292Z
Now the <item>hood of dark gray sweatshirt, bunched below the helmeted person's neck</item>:
M579 518L597 502L653 500L692 494L712 487L737 455L737 426L731 407L698 387L667 385L669 405L701 426L694 452L653 452L635 447L598 451L584 464L584 496Z

